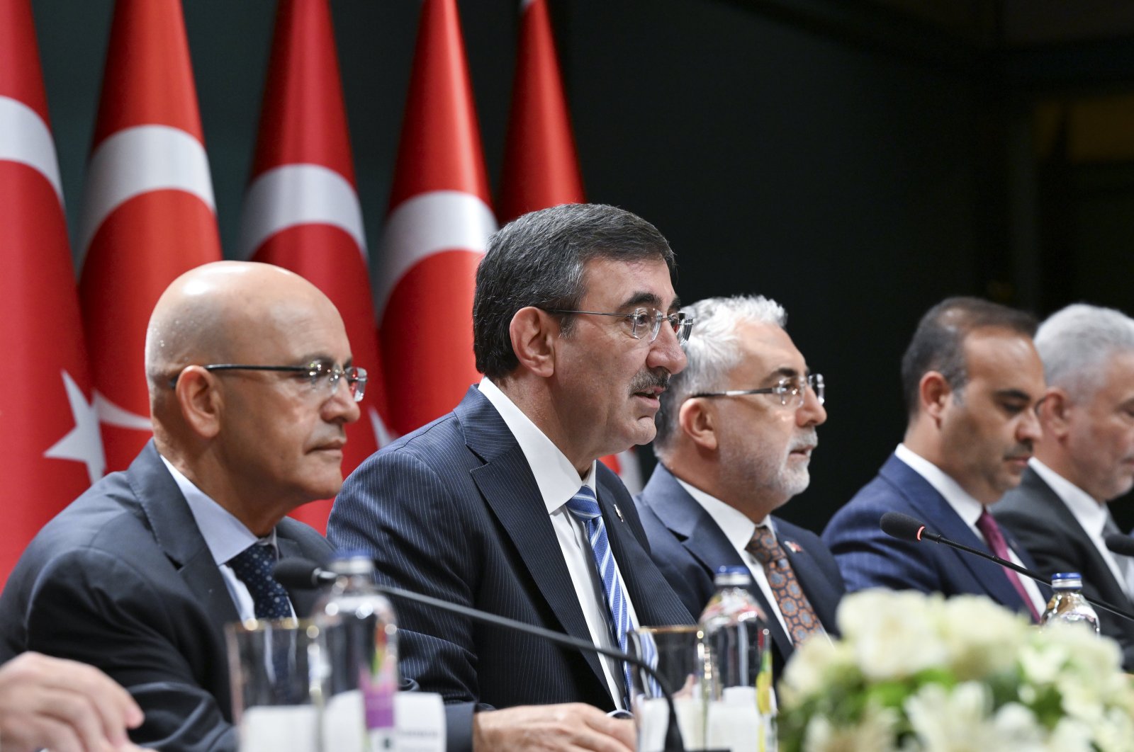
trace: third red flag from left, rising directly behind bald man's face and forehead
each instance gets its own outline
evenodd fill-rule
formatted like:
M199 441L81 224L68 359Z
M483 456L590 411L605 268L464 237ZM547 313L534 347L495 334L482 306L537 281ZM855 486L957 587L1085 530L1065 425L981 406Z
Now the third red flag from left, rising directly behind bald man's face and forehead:
M240 254L301 274L342 315L354 362L367 370L363 415L347 426L342 472L389 442L362 207L327 0L281 0L260 140L240 223ZM327 529L331 501L293 516Z

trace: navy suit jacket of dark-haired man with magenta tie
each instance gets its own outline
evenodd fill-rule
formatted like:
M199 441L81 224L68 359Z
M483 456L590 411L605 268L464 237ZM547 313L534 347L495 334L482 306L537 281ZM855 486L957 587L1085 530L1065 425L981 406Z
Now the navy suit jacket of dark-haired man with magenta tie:
M878 476L836 512L823 530L823 542L839 563L847 591L890 588L946 596L988 596L1031 618L1027 605L1002 566L940 544L891 538L878 527L887 512L908 514L931 532L992 553L928 480L890 455ZM1024 566L1033 569L1027 552L1007 531L1005 538Z

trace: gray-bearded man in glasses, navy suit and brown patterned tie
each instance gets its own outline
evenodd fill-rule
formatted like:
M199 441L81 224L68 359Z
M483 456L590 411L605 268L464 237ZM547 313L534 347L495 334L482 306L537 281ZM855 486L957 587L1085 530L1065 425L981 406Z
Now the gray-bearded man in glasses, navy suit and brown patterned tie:
M807 487L815 428L827 420L823 378L807 370L772 300L710 298L686 313L697 335L661 395L659 464L638 513L654 563L694 614L718 567L752 572L782 665L797 643L836 631L844 592L819 537L771 516Z

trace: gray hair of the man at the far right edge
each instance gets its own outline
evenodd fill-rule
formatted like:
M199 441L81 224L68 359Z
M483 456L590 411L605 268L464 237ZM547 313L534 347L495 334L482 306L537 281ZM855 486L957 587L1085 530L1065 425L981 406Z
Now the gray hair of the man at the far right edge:
M1085 399L1102 385L1107 362L1134 352L1134 319L1115 310L1074 304L1047 318L1035 332L1048 386Z

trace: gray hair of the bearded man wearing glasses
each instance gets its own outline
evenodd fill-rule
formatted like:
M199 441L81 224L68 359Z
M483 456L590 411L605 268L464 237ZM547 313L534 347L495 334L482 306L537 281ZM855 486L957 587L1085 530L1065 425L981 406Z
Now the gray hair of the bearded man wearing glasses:
M705 298L683 308L693 316L693 333L683 345L688 360L685 369L669 378L661 394L661 408L654 417L658 434L653 452L665 454L678 431L677 413L691 394L721 388L728 371L739 365L744 353L736 327L743 323L787 325L787 313L763 296Z

